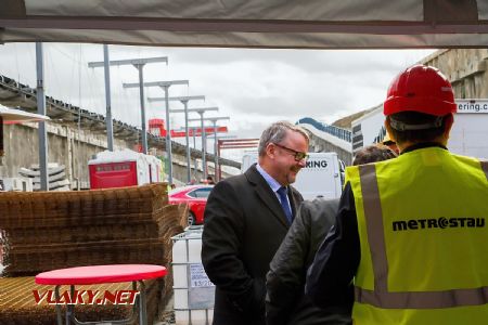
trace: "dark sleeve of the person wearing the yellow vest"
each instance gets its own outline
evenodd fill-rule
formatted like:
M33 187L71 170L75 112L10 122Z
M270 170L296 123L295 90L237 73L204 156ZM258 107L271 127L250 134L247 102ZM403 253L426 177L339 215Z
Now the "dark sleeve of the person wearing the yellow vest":
M341 197L336 224L317 251L307 273L306 295L319 307L350 300L351 282L360 259L355 198L347 183Z

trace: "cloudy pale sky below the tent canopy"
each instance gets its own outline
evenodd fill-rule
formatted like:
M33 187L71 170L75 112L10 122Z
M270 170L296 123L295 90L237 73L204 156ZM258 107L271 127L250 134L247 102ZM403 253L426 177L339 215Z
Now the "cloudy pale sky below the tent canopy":
M105 114L101 44L44 43L46 94L84 109ZM171 86L170 96L205 95L189 107L218 106L205 117L229 116L219 122L237 138L259 138L277 120L296 122L312 117L324 122L376 106L391 79L433 50L256 50L110 46L111 60L167 56L168 64L144 67L144 82L189 80ZM0 74L36 87L34 43L0 46ZM141 127L139 82L133 66L111 67L112 112L115 119ZM145 88L146 98L164 96L160 88ZM183 108L170 102L170 108ZM197 118L193 113L190 118ZM146 118L165 119L164 102L146 102ZM184 115L172 113L171 128L184 127ZM213 147L211 143L208 147ZM228 155L232 158L232 153Z

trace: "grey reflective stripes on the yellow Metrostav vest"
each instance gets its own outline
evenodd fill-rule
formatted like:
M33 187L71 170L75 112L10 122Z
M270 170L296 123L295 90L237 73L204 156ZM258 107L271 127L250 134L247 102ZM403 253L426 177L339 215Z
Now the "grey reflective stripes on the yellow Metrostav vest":
M481 161L488 179L488 161ZM488 303L488 287L422 292L388 292L383 216L374 165L359 166L364 219L374 274L374 290L356 287L356 301L389 309L441 309Z

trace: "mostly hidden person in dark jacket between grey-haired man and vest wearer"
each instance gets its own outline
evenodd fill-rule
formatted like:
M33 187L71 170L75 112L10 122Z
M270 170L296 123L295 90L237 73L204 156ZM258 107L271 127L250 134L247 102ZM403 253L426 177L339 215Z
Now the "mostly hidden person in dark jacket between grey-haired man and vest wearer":
M354 165L396 157L385 145L370 145L355 156ZM305 296L305 277L316 251L335 223L338 199L304 202L267 274L266 318L268 325L351 324L352 286L342 303L319 308Z

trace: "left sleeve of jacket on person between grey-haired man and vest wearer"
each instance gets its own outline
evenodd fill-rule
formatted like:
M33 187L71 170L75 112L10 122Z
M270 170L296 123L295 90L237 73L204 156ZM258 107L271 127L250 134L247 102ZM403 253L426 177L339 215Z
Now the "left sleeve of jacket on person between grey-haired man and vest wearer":
M310 213L300 205L286 237L267 274L266 318L268 325L283 325L303 290L304 265L310 243Z

